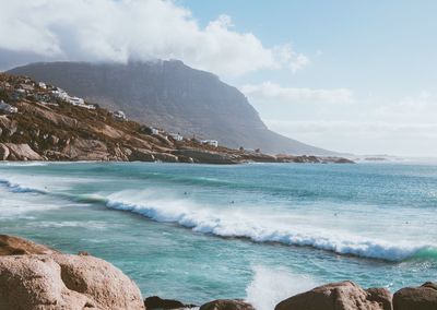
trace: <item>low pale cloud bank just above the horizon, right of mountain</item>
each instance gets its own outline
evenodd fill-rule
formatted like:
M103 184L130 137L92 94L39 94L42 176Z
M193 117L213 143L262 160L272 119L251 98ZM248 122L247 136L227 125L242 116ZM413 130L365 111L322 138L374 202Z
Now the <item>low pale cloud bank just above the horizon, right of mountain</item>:
M429 157L437 154L435 122L268 119L265 123L282 134L345 153Z

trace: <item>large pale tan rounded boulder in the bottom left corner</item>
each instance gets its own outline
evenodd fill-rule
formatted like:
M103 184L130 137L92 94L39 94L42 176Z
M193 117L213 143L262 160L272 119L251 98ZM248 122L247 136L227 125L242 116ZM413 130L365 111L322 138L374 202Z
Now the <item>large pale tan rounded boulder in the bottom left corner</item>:
M137 285L111 264L50 253L0 257L0 309L137 310L144 305Z

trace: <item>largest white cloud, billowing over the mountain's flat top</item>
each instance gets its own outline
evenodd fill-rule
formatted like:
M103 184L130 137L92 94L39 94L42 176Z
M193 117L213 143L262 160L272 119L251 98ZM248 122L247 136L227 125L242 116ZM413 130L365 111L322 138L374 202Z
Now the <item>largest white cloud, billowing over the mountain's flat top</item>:
M180 59L217 74L296 71L309 59L265 47L222 15L201 27L169 0L0 0L0 48L66 60Z

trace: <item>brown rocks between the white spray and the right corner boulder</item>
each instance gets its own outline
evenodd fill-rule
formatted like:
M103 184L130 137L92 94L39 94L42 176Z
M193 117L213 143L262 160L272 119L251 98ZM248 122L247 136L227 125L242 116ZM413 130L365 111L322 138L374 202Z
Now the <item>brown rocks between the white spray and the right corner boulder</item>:
M385 288L365 290L352 282L332 283L281 301L275 310L391 310Z

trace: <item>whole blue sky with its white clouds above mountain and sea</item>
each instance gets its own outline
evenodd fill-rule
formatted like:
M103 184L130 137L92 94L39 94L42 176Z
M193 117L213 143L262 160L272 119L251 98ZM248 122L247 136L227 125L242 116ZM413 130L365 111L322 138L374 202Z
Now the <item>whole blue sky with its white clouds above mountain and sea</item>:
M180 59L267 126L355 154L437 156L433 0L0 0L0 70Z

